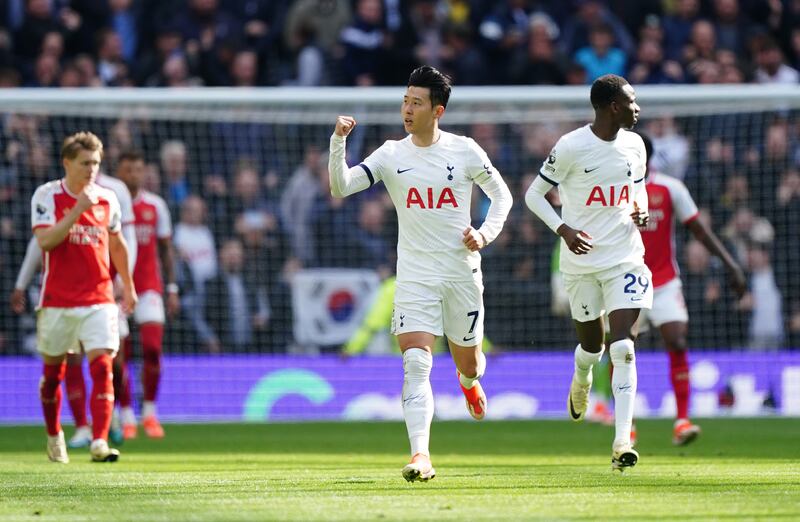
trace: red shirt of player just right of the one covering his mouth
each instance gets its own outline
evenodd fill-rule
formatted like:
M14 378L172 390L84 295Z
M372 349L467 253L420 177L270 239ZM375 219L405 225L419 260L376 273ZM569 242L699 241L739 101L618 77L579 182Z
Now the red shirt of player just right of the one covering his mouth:
M167 204L156 194L143 190L133 200L133 213L136 216L134 223L139 245L133 283L139 293L155 290L162 294L164 285L161 279L158 240L172 236L172 221Z

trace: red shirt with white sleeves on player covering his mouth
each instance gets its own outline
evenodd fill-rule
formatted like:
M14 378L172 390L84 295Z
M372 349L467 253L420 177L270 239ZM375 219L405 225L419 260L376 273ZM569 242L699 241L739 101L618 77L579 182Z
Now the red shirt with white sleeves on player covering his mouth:
M120 207L112 191L98 185L94 188L98 203L80 215L61 244L42 253L40 308L114 302L108 235L121 229ZM33 229L55 225L76 201L76 195L67 190L63 180L41 185L31 198Z

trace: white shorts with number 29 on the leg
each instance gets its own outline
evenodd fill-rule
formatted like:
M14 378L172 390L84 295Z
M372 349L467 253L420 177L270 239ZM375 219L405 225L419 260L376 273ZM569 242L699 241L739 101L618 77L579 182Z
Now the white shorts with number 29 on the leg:
M592 321L614 310L653 305L652 276L644 263L626 263L591 274L564 274L564 287L576 321Z

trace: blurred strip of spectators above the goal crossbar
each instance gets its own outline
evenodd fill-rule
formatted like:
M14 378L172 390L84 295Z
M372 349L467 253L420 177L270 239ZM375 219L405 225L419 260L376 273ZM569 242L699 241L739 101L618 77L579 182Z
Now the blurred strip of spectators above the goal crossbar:
M0 86L798 83L797 0L3 0Z

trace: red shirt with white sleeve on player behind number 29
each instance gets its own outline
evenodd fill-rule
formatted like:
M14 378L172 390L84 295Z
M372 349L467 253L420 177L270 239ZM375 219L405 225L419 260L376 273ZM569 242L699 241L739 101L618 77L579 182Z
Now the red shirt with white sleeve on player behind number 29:
M658 288L678 276L673 216L686 224L698 212L686 185L665 174L650 174L647 199L650 221L642 231L644 262L653 273L653 287Z

